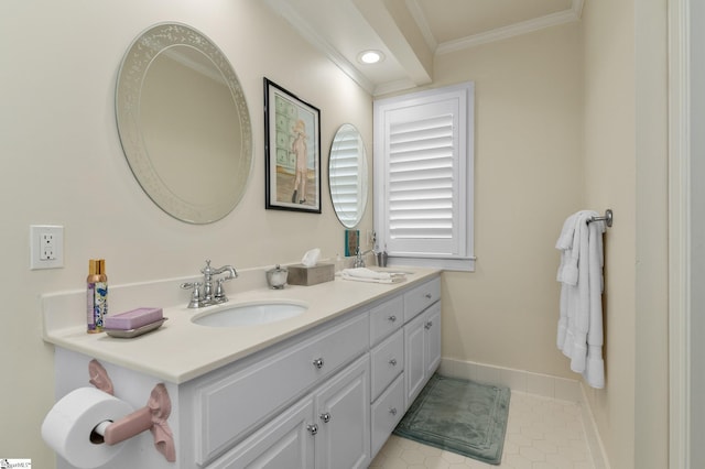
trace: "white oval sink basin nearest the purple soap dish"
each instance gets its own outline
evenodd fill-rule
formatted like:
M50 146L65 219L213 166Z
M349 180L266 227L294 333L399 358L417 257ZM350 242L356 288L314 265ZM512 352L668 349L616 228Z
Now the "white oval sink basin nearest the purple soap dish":
M303 314L308 307L296 302L254 302L226 305L194 316L194 324L210 327L257 326Z

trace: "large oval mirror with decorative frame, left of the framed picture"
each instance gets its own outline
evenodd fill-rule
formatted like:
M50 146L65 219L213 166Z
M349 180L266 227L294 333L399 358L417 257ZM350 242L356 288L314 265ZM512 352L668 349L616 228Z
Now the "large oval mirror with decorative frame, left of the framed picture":
M250 113L228 59L202 33L177 23L142 33L120 66L116 112L130 168L161 209L209 223L240 201Z

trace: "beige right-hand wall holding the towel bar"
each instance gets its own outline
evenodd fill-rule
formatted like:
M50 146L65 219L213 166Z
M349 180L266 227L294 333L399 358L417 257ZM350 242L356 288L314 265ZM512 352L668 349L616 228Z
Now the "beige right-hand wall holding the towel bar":
M616 214L605 248L607 385L588 397L614 468L665 468L666 2L586 2L583 24L586 199Z

